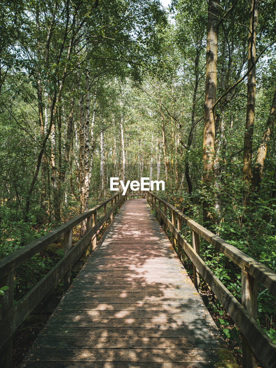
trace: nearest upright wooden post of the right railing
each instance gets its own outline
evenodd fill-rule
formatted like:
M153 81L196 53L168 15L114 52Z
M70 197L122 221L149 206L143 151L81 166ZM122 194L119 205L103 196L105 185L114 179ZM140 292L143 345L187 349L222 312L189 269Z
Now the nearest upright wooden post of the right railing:
M257 321L258 308L257 293L258 281L246 271L241 270L241 304L255 321ZM242 367L258 367L255 355L249 348L247 338L244 335L242 335Z

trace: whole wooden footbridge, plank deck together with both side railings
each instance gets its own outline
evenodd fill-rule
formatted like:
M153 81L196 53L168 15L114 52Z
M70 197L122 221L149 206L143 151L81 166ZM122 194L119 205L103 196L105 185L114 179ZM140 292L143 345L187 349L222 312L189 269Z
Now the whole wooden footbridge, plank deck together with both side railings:
M238 367L198 294L201 279L241 329L243 367L257 367L257 361L276 367L276 344L255 322L258 281L275 293L275 273L151 192L147 199L125 199L119 193L0 261L0 287L9 286L0 300L3 367L12 366L13 333L62 278L64 293L69 290L22 367ZM87 233L72 247L72 229L84 219ZM108 219L113 221L96 248ZM182 224L191 228L191 245L181 235ZM64 257L13 306L14 269L63 236ZM200 237L241 267L242 305L200 258ZM183 252L193 262L194 284ZM71 266L80 258L88 259L70 286Z

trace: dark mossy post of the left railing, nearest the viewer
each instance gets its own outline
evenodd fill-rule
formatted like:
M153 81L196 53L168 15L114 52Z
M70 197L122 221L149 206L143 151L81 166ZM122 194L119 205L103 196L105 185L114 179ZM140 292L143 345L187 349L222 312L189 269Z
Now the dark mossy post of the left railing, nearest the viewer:
M13 308L13 277L14 271L11 271L0 280L0 287L8 287L8 289L4 291L4 295L0 297L0 304L2 305L2 307L0 307L0 319ZM5 344L1 351L0 359L1 357L3 357L3 368L11 368L13 366L13 337L10 337Z

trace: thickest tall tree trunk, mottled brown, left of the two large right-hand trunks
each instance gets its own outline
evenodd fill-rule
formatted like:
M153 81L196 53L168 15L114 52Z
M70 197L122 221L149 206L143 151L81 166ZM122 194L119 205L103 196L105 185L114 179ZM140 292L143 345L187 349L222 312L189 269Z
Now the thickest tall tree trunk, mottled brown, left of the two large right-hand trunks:
M215 117L213 106L217 95L217 42L219 33L220 0L208 3L207 47L206 47L206 81L204 103L203 132L203 183L207 192L211 192L214 181L214 139ZM203 201L203 220L213 222L210 203Z

